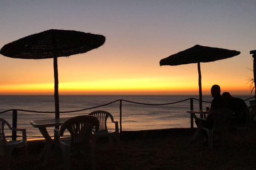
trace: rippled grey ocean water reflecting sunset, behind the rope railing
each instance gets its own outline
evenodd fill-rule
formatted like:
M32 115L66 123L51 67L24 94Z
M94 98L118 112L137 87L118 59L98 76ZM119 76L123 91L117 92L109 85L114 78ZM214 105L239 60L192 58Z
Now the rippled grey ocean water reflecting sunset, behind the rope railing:
M234 96L242 99L247 99L252 96ZM76 111L85 108L92 108L113 101L122 99L129 100L135 103L145 104L168 104L176 101L185 100L188 98L198 99L198 95L60 95L60 112ZM211 101L213 98L203 96L204 101ZM120 129L120 101L102 106L99 108L89 109L74 113L60 113L60 117L71 117L78 115L87 115L93 111L103 110L111 113L114 120L118 121ZM249 100L246 101L249 106ZM203 108L206 108L209 103L203 103ZM23 96L0 96L0 112L9 109L23 109L29 111L54 112L54 97L47 95L23 95ZM199 109L199 102L194 100L194 109ZM190 128L190 115L186 111L190 110L190 100L182 101L170 105L142 105L134 104L127 101L122 101L122 130L123 131L138 131L138 130L153 130L167 128ZM17 126L21 129L26 129L27 138L41 138L42 135L37 128L30 125L30 121L44 120L54 118L54 113L32 113L18 111ZM12 123L12 111L0 114L10 124ZM109 123L108 128L114 129L114 124ZM54 128L47 128L47 131L53 136ZM10 135L10 132L5 132Z

